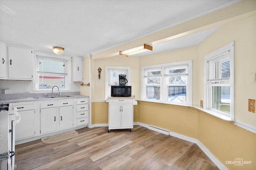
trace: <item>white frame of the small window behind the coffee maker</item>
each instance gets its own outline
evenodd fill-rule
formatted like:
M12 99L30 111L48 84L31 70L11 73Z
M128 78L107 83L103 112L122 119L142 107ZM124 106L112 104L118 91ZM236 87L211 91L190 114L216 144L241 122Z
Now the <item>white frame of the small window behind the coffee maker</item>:
M131 67L127 66L105 66L105 100L108 100L109 91L108 91L108 70L128 70L126 74L126 79L128 81L126 86L131 85Z

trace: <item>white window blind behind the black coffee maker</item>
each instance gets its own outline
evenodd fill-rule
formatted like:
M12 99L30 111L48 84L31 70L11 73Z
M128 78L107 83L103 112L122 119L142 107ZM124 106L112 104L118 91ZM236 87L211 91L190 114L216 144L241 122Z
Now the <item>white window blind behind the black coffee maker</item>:
M118 85L120 74L127 75L128 70L127 69L108 69L108 86Z

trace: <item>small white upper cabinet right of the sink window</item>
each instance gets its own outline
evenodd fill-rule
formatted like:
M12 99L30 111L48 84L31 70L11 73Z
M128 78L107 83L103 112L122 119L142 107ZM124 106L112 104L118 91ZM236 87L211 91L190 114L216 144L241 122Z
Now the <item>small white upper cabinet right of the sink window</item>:
M83 58L72 57L72 82L83 81Z

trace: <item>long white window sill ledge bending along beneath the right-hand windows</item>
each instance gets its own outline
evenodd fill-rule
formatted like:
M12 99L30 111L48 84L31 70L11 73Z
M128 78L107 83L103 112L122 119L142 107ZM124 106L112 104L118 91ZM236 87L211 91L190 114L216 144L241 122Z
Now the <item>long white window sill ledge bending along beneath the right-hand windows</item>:
M212 110L204 109L204 108L199 107L199 106L193 106L193 105L188 105L188 104L175 104L175 103L167 103L167 102L156 102L156 101L149 101L149 100L137 100L137 101L153 102L153 103L161 103L161 104L170 104L170 105L177 105L177 106L194 107L194 108L196 108L198 110L204 111L205 113L208 113L210 115L218 117L218 118L220 118L222 120L225 120L225 121L235 121L235 119L231 119L229 116L225 116L225 115L222 115L220 113L216 113L216 112L214 112Z

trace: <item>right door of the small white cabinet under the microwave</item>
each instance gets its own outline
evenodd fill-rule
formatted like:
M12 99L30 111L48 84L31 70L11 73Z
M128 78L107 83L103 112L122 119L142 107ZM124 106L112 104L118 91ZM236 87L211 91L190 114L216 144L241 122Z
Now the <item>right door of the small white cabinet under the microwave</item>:
M132 104L122 104L122 127L131 127L133 124L133 105Z

